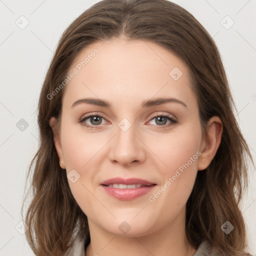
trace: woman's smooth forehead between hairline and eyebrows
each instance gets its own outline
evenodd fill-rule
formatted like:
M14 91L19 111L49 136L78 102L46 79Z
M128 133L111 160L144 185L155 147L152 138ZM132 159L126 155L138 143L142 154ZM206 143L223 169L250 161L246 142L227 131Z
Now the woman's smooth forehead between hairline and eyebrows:
M118 105L154 96L177 97L188 104L196 100L185 63L149 41L95 42L76 56L68 73L74 70L63 98L68 104L83 96L107 98Z

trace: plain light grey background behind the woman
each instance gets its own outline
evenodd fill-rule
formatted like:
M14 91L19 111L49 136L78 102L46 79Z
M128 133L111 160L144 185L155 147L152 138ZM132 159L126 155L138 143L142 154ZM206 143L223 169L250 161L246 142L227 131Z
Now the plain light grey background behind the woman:
M95 2L97 0L0 0L1 256L33 255L25 235L18 230L24 228L19 222L25 173L38 145L37 100L60 35ZM237 120L255 159L256 0L174 2L191 12L214 38L236 102ZM22 15L25 18L20 18ZM29 24L23 28L26 22ZM18 123L21 118L28 127ZM255 181L255 170L251 166L248 194L244 195L241 209L253 255L256 254Z

